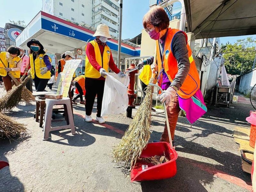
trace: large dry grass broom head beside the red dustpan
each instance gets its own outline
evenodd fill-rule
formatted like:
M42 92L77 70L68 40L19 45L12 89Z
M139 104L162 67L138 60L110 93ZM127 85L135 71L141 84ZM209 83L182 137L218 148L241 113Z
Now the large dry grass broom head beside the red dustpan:
M150 83L155 83L155 79L151 78ZM117 163L124 161L125 165L129 165L129 163L131 163L131 166L134 165L137 158L140 157L142 150L147 146L151 134L153 90L153 86L147 87L146 96L132 119L132 123L121 141L113 148L112 156Z

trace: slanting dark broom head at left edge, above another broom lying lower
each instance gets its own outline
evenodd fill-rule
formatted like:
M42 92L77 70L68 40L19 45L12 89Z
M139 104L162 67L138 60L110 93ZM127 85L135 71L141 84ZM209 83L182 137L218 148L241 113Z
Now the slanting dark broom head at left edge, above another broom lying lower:
M21 101L21 92L30 79L27 77L20 85L13 87L2 98L0 98L0 111L10 111Z

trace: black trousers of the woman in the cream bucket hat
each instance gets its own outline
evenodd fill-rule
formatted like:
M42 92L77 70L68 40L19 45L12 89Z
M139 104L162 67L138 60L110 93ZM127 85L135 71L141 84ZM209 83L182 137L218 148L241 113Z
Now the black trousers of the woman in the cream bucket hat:
M102 99L104 93L104 80L97 80L92 78L85 78L85 114L91 115L95 97L97 95L97 117L101 117Z

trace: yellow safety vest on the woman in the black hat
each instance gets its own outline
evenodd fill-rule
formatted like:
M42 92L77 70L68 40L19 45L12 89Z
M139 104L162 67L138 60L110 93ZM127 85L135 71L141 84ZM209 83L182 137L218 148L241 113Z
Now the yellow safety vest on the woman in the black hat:
M29 57L29 61L30 61L30 67L31 67L31 77L32 79L35 79L35 71L36 71L36 76L39 79L51 79L51 72L47 71L47 73L45 74L41 74L40 69L42 67L46 67L46 64L44 63L44 56L46 54L40 54L36 59L35 59L35 63L33 60L33 54L30 54ZM47 55L48 56L48 55ZM49 56L48 56L49 57ZM50 62L52 62L52 59L49 57Z

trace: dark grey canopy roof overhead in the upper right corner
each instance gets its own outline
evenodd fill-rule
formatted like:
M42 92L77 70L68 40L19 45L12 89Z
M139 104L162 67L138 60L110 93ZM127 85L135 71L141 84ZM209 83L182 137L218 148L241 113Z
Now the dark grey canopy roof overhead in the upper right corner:
M256 34L255 0L185 0L184 4L188 32L198 34L196 39Z

